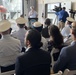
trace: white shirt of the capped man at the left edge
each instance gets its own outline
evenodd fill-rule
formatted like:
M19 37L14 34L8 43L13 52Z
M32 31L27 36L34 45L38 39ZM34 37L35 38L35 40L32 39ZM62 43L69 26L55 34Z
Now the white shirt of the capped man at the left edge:
M19 56L21 50L20 41L4 35L0 40L0 66L8 66L15 64L16 58Z

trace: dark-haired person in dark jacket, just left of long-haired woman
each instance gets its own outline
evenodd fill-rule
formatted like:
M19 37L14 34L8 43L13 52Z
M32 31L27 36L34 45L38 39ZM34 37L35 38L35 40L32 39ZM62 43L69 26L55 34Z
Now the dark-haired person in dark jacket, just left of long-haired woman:
M47 18L46 20L45 20L45 26L46 27L44 27L43 29L42 29L42 36L44 37L44 38L46 38L47 40L49 39L49 33L48 33L48 28L49 28L49 26L51 25L51 21L50 21L50 19L49 18Z

